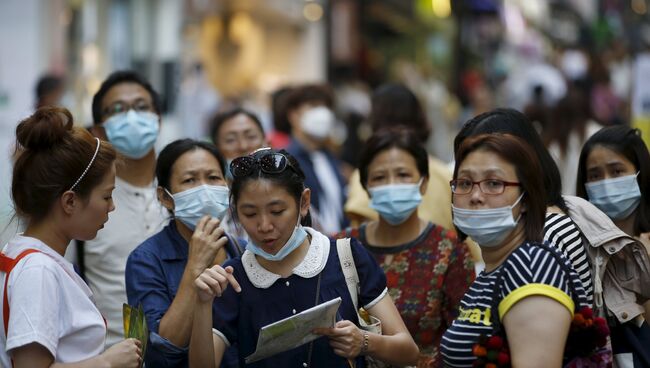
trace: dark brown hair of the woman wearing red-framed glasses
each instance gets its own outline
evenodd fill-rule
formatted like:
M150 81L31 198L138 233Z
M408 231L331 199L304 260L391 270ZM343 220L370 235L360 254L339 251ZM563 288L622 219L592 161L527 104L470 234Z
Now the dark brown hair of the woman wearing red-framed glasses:
M526 203L526 212L520 221L525 221L524 231L527 241L542 241L546 216L546 193L542 166L537 155L524 140L510 134L482 134L466 138L456 151L454 179L458 177L458 168L467 156L477 150L496 153L503 160L515 167L517 179L524 193L522 203Z

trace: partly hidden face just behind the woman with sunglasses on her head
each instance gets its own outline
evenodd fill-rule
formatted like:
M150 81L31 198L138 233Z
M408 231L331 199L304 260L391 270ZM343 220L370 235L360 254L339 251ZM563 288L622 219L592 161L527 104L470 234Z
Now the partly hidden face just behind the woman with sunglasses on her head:
M215 141L226 160L246 156L266 145L264 133L246 114L238 114L219 127L219 139Z

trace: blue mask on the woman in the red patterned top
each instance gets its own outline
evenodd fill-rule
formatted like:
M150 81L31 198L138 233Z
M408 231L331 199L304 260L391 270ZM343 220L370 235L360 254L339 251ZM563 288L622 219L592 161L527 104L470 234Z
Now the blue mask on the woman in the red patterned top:
M391 225L406 221L422 202L420 186L417 184L389 184L369 188L370 208L379 213Z

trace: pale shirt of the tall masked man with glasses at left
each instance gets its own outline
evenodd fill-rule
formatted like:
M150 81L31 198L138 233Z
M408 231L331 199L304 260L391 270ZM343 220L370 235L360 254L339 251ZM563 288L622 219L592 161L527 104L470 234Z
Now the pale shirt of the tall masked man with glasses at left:
M115 211L97 237L84 245L86 280L97 307L108 324L106 346L124 339L122 304L127 302L124 270L126 259L140 243L167 224L169 213L156 198L156 186L135 187L115 178ZM66 258L75 260L74 247Z

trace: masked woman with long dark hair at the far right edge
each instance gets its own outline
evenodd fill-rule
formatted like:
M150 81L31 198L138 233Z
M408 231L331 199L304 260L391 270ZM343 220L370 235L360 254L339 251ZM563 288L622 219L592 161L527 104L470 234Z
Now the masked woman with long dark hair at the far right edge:
M612 126L591 136L580 153L576 192L632 237L622 242L629 244L623 251L617 247L618 256L609 258L616 274L625 276L617 284L604 284L606 291L617 292L615 300L605 298L605 303L617 317L609 321L614 354L632 352L635 367L650 367L650 154L639 130ZM639 346L645 348L629 345L622 330L640 336Z

